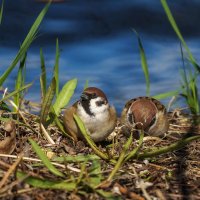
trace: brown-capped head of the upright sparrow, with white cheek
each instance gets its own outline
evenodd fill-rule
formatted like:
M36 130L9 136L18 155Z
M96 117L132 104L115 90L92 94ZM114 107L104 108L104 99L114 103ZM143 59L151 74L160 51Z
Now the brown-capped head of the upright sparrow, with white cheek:
M90 116L103 113L109 107L106 95L96 87L86 88L80 97L79 103Z

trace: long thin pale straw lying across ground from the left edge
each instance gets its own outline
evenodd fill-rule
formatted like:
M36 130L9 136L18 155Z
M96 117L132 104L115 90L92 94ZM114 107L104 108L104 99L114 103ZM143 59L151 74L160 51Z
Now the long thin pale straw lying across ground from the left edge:
M6 157L6 158L18 158L18 156L15 156L15 155L8 155L8 154L0 154L0 157ZM22 157L22 160L27 160L27 161L33 161L33 162L42 162L42 160L40 159L37 159L37 158L29 158L29 157ZM61 167L63 169L67 168L71 171L74 171L74 172L80 172L80 169L77 169L75 167L71 167L70 165L62 165L62 164L59 164L59 163L55 163L55 162L51 162L53 165L55 166L58 166L58 167Z

